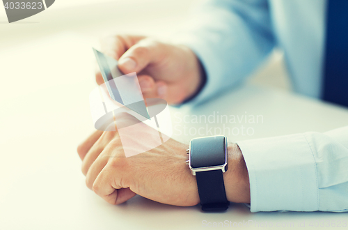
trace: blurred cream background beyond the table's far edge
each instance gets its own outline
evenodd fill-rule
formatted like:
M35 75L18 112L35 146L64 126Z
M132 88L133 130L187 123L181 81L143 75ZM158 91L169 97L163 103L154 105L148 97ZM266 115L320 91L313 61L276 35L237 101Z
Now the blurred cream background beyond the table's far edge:
M132 33L166 38L187 22L198 0L57 0L44 12L8 24L0 7L0 50L60 33L77 33L97 43L102 36ZM251 82L290 89L283 54L274 50Z

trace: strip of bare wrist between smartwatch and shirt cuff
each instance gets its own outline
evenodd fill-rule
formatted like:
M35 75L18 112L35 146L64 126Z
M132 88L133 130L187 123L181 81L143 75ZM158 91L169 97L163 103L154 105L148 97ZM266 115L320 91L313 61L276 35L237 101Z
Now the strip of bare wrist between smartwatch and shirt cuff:
M237 144L228 144L228 170L223 174L226 197L234 203L250 203L248 169Z

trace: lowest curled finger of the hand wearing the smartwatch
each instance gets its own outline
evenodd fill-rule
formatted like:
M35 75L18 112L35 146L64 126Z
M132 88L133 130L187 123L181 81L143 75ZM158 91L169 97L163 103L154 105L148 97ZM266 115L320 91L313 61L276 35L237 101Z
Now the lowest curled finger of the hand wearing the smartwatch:
M136 193L129 187L123 188L116 183L115 176L111 168L104 167L93 183L93 191L109 204L122 204L134 197Z

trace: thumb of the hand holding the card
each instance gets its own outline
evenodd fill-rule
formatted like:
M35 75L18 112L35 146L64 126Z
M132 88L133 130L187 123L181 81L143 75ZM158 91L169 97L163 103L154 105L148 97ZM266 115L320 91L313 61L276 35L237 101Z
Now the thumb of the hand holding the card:
M120 56L118 68L125 74L141 72L150 63L161 60L163 54L163 44L153 40L141 40Z

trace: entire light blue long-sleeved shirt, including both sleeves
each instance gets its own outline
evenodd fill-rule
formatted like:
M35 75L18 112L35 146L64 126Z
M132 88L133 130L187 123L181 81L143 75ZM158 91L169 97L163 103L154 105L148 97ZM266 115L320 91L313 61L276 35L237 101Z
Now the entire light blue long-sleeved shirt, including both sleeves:
M205 67L199 103L241 83L274 47L285 52L294 91L321 96L326 1L215 0L175 37ZM348 211L348 127L240 141L251 211Z

